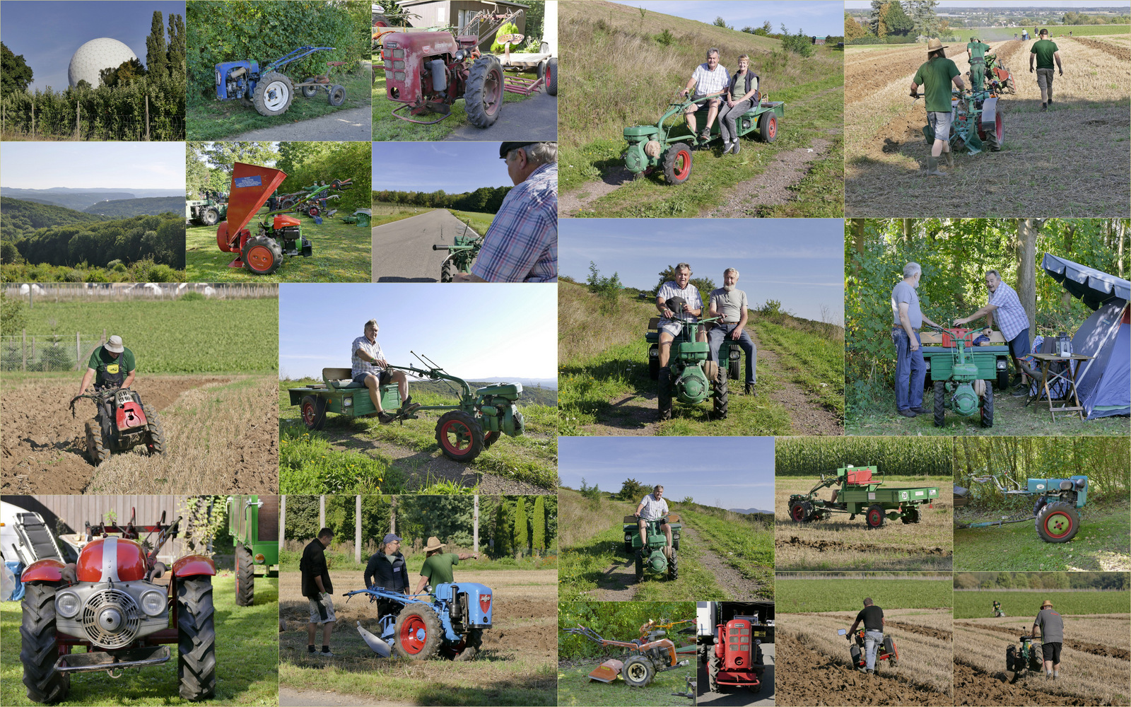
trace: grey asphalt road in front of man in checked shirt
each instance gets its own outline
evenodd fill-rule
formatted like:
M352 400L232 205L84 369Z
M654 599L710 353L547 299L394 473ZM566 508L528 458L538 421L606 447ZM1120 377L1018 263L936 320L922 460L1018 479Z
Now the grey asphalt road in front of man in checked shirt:
M442 208L412 218L373 226L374 283L437 283L448 253L432 250L435 243L451 244L464 233L464 224ZM468 235L474 233L467 230Z

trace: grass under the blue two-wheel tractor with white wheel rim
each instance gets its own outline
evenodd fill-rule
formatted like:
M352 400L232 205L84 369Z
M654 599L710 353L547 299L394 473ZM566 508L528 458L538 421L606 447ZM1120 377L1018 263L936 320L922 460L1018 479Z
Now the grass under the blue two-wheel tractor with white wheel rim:
M304 77L291 76L292 80L301 81ZM319 90L313 97L305 98L301 89L295 89L291 107L280 115L260 115L254 107L245 107L239 101L216 101L197 98L190 101L185 109L185 129L190 140L216 140L259 128L273 128L295 123L319 115L328 115L337 111L371 105L369 98L370 80L368 70L355 70L345 76L334 74L333 84L340 84L346 89L346 102L335 107L327 101L327 93ZM333 85L331 84L331 85Z

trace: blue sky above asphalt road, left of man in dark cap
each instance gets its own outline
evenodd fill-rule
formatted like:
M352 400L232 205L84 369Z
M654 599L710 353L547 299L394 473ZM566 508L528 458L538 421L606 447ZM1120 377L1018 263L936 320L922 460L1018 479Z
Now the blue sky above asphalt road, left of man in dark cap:
M512 186L499 143L373 143L373 191L464 193Z

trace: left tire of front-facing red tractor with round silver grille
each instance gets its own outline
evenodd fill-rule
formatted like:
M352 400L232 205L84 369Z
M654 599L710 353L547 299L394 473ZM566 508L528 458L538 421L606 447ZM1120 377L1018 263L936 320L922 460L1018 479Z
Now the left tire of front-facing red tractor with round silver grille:
M26 585L20 610L19 661L24 664L27 698L52 704L70 691L70 673L55 670L59 643L55 635L55 592L62 583L32 581Z

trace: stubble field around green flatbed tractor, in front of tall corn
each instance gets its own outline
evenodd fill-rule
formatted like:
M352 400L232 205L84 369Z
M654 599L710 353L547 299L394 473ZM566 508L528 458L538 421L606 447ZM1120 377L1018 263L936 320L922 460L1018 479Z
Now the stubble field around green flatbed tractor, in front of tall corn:
M892 486L938 486L939 498L922 506L916 524L884 520L869 529L863 516L849 520L834 514L828 520L794 523L789 519L789 495L808 493L818 478L779 477L774 489L775 551L778 570L942 570L953 562L953 493L950 477L888 476ZM828 500L832 490L818 491Z

